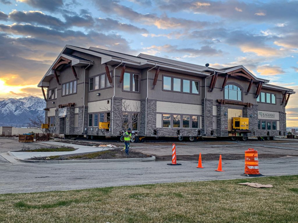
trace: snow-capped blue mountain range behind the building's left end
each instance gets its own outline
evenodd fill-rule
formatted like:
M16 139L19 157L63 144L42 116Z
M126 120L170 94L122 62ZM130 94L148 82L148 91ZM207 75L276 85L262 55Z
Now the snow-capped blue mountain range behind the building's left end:
M27 124L29 119L45 114L46 102L38 97L0 98L0 126Z

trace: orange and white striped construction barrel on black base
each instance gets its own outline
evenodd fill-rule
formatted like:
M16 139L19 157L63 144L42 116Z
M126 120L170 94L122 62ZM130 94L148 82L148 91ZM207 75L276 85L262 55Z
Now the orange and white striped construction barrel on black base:
M260 177L263 176L259 172L259 158L258 151L252 148L249 148L245 151L245 168L244 174L242 176L247 177Z

